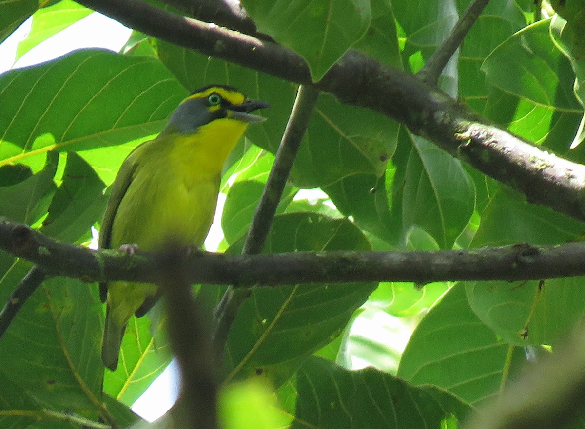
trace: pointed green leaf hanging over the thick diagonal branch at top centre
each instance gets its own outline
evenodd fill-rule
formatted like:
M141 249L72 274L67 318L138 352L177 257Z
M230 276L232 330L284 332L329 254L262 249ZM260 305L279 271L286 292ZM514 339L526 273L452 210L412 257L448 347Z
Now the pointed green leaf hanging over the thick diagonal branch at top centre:
M368 0L243 0L242 5L261 32L307 60L315 82L371 22Z

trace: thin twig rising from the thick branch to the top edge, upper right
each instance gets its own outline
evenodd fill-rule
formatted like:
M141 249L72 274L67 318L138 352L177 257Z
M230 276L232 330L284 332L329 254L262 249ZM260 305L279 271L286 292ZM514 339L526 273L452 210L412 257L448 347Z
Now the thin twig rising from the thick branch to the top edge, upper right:
M489 2L490 0L474 0L467 6L467 9L451 30L449 37L443 41L431 59L426 61L425 66L418 72L417 75L422 81L430 85L437 84L443 68L455 54L464 37L469 33L469 30L471 30Z

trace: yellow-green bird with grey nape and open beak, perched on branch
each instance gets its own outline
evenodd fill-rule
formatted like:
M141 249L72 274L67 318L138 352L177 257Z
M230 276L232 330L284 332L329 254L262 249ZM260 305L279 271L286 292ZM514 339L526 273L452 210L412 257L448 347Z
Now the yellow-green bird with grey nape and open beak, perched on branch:
M122 163L101 223L98 247L133 252L173 245L201 247L215 213L224 162L247 126L269 104L229 85L207 85L187 96L162 132ZM115 371L132 314L142 317L159 298L156 285L99 285L106 303L102 361Z

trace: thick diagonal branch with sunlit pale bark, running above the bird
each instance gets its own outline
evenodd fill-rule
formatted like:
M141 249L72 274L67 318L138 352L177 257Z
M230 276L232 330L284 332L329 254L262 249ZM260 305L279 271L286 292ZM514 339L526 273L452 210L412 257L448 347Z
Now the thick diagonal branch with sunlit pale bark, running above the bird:
M142 32L298 84L311 85L307 63L269 41L161 11L140 0L81 4ZM524 193L528 200L585 220L585 167L500 129L412 74L357 51L316 84L340 101L405 124L454 157Z

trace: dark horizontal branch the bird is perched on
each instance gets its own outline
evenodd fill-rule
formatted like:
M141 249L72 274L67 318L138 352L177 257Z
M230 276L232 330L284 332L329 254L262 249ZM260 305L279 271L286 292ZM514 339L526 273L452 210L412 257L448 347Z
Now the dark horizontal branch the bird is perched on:
M0 218L0 249L25 258L49 275L84 282L113 280L160 284L160 255L89 250L59 243L30 227ZM297 283L523 281L585 275L585 242L516 244L471 250L317 251L229 255L194 251L189 283L294 285Z

